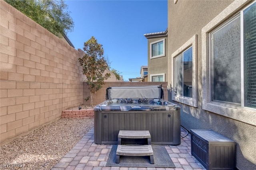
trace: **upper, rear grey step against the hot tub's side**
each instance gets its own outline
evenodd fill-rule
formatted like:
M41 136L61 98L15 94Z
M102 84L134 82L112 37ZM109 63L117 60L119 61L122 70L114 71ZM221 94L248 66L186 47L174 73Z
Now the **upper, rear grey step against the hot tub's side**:
M144 139L148 138L148 145L151 145L151 135L149 131L119 131L118 133L118 145L121 145L122 138L128 139Z

